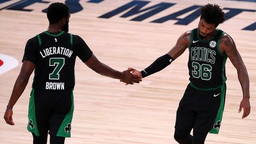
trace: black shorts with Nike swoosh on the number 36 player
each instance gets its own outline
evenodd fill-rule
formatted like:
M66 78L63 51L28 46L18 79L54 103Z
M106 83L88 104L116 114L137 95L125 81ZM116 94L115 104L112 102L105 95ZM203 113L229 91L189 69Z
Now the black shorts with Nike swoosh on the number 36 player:
M199 90L189 84L177 110L175 129L219 133L225 95L226 84L212 90Z

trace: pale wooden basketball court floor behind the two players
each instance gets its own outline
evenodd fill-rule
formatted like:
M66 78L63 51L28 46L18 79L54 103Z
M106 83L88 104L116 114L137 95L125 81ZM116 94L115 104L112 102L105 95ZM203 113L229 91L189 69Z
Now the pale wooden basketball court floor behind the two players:
M27 132L26 126L33 75L14 107L15 126L6 124L2 117L15 79L20 72L25 43L31 37L46 30L48 26L46 14L41 11L47 8L49 3L36 2L24 7L32 11L21 11L8 7L15 2L18 1L2 1L0 4L0 54L18 60L17 67L0 75L0 143L2 144L32 143L31 134ZM164 23L151 21L193 5L207 3L219 4L220 7L226 8L225 12L232 9L252 10L242 11L219 25L220 29L235 40L236 47L247 66L250 78L251 114L246 119L241 119L242 114L238 113L242 91L236 70L230 60L227 60L228 81L222 126L219 135L207 136L206 143L256 143L256 2L152 0L147 1L149 4L141 9L161 2L175 5L142 21L132 19L148 11L137 12L126 18L120 17L131 8L110 18L99 18L129 2L143 1L106 0L98 3L89 0L80 1L83 9L71 14L69 23L70 32L81 36L101 62L119 71L124 71L127 67L138 70L146 68L157 57L167 53L180 34L197 27L199 17L187 25L175 24L178 20L167 20ZM192 12L177 18L183 19ZM252 25L252 30L242 30L248 25ZM78 58L75 66L72 137L66 139L66 143L176 143L173 138L175 116L178 103L188 84L187 59L188 51L185 51L161 72L148 76L140 84L126 86L117 79L98 75Z

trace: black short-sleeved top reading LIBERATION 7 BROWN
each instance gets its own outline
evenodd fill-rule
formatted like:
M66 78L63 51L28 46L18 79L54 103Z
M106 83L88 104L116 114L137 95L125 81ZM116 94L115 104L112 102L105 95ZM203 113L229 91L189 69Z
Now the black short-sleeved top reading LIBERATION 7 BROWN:
M92 51L81 37L65 33L44 31L28 40L24 60L35 65L34 89L63 90L75 86L75 60L86 62Z

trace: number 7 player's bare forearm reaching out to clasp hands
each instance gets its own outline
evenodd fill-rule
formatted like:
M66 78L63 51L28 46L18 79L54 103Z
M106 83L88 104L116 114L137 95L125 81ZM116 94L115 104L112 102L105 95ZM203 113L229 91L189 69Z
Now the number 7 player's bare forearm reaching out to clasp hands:
M92 55L86 62L85 65L87 65L89 68L91 68L93 71L108 76L110 78L120 79L121 82L127 83L127 84L134 84L139 83L141 78L139 76L132 75L133 69L127 69L126 71L119 72L116 71L109 66L105 65L104 63L101 63L97 57Z

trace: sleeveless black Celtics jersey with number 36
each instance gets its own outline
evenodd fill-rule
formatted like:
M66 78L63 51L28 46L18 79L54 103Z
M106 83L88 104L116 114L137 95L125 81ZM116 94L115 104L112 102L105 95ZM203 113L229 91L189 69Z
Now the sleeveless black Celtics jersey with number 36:
M225 84L227 56L220 53L220 38L225 34L216 29L213 37L202 40L199 29L191 30L188 57L190 84L201 89L215 89Z

